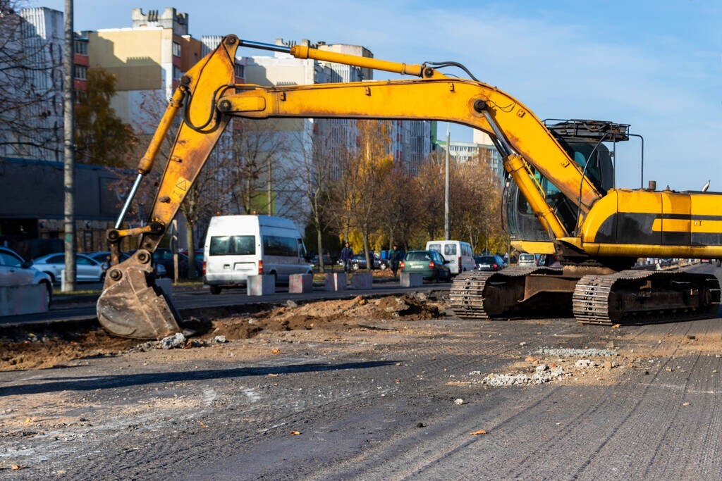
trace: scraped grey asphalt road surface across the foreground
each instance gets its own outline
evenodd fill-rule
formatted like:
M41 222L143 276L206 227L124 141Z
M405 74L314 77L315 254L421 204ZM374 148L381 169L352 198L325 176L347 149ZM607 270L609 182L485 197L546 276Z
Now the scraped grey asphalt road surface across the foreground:
M176 350L0 372L0 477L719 480L721 321L445 317L409 336L397 325L391 340L243 340L227 357ZM540 348L609 346L629 366L599 379L480 382ZM50 410L69 421L43 428ZM6 427L25 416L27 428Z

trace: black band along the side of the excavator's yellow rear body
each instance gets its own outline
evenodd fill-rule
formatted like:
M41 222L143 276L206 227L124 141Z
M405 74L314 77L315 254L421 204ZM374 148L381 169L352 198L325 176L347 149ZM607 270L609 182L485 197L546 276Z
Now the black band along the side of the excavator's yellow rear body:
M594 242L599 244L722 246L722 232L653 231L657 219L722 221L722 216L617 212L599 226Z

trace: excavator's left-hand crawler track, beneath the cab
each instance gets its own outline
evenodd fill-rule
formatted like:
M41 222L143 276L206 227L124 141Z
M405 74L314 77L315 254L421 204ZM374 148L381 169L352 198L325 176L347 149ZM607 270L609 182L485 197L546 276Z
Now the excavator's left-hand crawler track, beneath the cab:
M537 288L539 281L547 284L548 292ZM449 299L453 312L463 319L535 316L540 308L559 306L560 296L570 298L575 282L554 268L471 270L454 279Z

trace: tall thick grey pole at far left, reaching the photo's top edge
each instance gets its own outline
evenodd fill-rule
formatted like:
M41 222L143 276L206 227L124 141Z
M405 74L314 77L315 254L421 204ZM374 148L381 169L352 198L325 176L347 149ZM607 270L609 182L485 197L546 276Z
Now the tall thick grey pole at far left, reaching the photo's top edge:
M65 226L65 278L63 291L75 290L75 149L74 149L74 85L73 85L73 0L65 0L65 58L64 58L64 226Z

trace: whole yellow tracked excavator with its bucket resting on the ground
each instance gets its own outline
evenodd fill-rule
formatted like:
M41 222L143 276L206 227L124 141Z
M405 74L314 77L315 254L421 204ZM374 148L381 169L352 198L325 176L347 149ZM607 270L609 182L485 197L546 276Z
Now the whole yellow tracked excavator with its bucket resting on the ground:
M236 84L234 59L240 46L414 78L283 87ZM181 331L181 318L155 285L152 253L232 117L443 120L488 133L508 173L504 221L514 246L554 257L562 267L459 275L450 296L461 317L509 317L560 304L571 306L578 320L600 324L716 312L720 288L714 275L630 268L638 257L722 257L721 194L617 189L605 142L628 138L628 125L592 120L545 125L521 102L474 79L463 66L469 79L442 74L447 66L459 65L396 63L308 45L287 48L225 37L182 77L139 163L115 229L108 231L111 265L97 301L101 325L136 338ZM148 223L121 229L177 115L182 115L181 126ZM139 249L118 262L120 241L129 236L139 237Z

